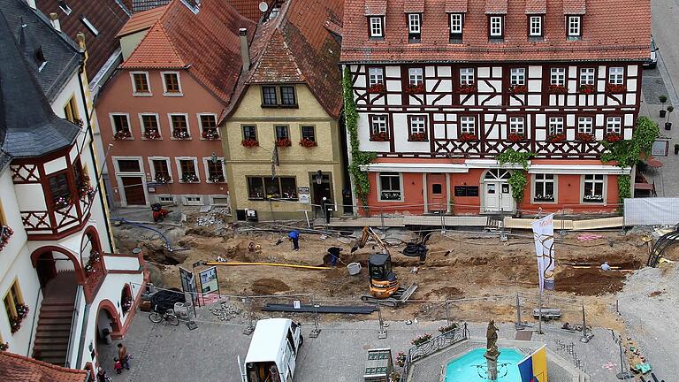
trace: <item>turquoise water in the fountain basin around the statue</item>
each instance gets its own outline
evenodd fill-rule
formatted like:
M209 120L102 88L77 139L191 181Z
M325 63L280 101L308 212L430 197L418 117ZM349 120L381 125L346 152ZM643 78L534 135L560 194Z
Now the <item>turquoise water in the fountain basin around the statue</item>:
M446 366L445 382L486 382L484 358L485 349L477 348L466 355L454 359ZM525 355L513 348L500 348L498 358L498 382L521 382L519 368L516 366ZM500 366L506 363L504 366ZM483 366L479 368L478 366ZM479 376L479 373L481 376Z

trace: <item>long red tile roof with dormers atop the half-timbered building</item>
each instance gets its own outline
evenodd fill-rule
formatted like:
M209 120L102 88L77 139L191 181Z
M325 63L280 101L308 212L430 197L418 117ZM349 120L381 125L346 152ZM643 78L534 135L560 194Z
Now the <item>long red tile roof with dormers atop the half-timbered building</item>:
M468 3L462 44L449 42L446 7L450 0L425 0L422 42L408 43L403 18L406 0L389 0L384 40L370 40L363 15L367 0L346 0L342 34L343 62L633 60L650 56L651 7L648 0L590 1L583 17L583 36L568 40L564 1L547 0L545 38L527 37L525 0L509 0L505 38L489 42L486 2ZM457 2L455 2L457 3ZM459 4L458 4L459 5Z

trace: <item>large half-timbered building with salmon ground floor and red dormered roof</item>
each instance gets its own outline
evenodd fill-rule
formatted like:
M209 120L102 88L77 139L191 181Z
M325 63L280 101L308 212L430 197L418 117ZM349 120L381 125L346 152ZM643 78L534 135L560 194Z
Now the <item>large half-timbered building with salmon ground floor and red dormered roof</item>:
M632 137L650 34L632 0L347 0L341 61L360 150L377 153L368 204L616 210L631 169L602 163L601 141ZM523 164L498 160L514 151L532 153L521 199Z

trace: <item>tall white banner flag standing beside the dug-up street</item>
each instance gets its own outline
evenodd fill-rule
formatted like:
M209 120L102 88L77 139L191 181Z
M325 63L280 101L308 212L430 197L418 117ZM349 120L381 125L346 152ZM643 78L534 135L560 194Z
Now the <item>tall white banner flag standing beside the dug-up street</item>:
M540 290L554 288L554 214L532 224L535 254L538 257Z

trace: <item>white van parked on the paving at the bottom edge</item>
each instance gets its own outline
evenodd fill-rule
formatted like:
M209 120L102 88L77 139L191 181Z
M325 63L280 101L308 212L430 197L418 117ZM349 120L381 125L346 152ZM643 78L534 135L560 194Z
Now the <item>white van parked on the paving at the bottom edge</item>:
M301 325L287 318L259 320L245 364L238 366L242 382L291 382L304 339ZM245 370L243 370L245 369Z

